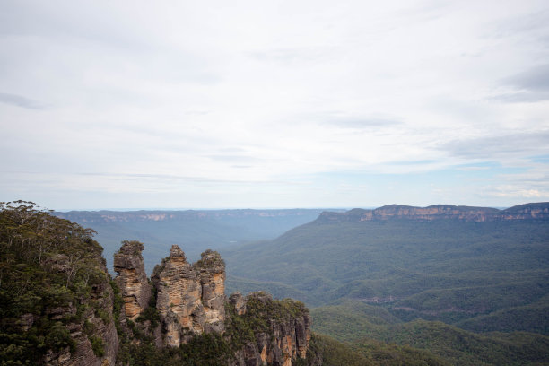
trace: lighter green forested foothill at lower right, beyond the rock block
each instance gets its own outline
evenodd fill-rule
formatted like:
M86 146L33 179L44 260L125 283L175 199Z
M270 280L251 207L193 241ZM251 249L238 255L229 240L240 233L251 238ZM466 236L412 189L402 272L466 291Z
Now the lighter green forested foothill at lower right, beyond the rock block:
M402 347L408 347L410 352L423 350L453 365L549 362L549 337L544 335L523 332L479 335L441 322L401 323L386 310L360 301L312 309L311 315L316 332L345 341L362 354L378 352L379 348L393 344L401 347L401 352Z

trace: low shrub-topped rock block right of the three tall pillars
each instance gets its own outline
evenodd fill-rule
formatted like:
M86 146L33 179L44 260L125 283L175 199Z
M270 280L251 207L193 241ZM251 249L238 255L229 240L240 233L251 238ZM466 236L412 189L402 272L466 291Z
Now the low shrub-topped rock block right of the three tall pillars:
M259 316L266 325L262 331L254 331L255 342L245 344L236 354L233 365L292 366L292 362L305 359L311 320L301 302L274 301L269 294L254 292L243 299L240 294L231 295L231 305L235 312L240 310L242 318L246 319L247 312L253 311L253 317Z

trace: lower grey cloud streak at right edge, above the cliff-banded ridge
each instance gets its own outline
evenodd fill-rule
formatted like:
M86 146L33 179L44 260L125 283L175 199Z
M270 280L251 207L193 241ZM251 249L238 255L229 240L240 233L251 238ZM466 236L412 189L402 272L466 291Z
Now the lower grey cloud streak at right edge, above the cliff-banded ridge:
M454 140L440 145L439 148L453 156L468 159L524 157L528 154L549 153L549 131Z

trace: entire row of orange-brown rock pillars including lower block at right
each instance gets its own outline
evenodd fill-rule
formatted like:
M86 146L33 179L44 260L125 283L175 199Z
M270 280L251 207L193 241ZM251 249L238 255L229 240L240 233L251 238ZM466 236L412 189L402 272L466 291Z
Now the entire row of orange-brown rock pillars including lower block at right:
M138 294L149 290L137 285L146 281L143 247L138 244L125 242L115 256L117 281L125 301L128 299L125 305L129 303L126 318L137 317L143 311ZM134 327L153 335L157 347L179 347L196 335L224 334L228 344L241 344L231 349L235 366L292 366L292 362L305 359L310 318L304 305L299 301L274 301L264 292L246 297L235 293L227 301L225 278L225 264L219 253L206 250L200 260L190 264L181 248L172 246L170 256L154 268L152 276L161 326L150 327L141 319ZM238 330L242 324L247 326ZM128 336L131 339L133 335L130 332Z

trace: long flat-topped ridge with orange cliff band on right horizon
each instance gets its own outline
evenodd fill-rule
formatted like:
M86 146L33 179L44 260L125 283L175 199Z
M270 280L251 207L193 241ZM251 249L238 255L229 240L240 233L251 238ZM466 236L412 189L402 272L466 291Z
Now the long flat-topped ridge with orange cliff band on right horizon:
M430 205L414 207L408 205L384 205L373 210L353 208L344 213L323 212L318 222L362 222L391 219L405 220L459 220L487 222L498 220L549 220L549 202L516 205L505 210L492 207L464 205Z

